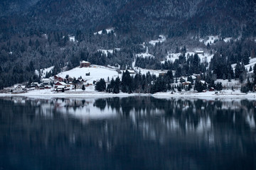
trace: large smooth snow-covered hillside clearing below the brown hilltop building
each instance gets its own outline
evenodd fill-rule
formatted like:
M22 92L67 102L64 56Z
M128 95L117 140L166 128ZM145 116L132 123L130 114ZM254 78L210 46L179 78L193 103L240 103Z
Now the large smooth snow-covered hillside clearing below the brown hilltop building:
M85 74L90 73L90 76L85 76ZM105 79L107 81L107 77L121 77L121 74L118 74L118 72L115 69L103 67L99 65L91 65L91 67L75 67L74 69L70 69L67 72L61 72L57 74L58 77L65 78L66 75L69 75L70 77L75 77L78 79L79 77L82 77L82 79L86 80L86 83L92 84L93 81L98 81L100 79Z

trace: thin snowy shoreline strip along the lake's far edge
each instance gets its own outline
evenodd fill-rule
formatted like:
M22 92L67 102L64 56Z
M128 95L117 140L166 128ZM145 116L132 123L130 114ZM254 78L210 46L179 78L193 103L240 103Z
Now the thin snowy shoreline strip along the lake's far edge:
M36 90L28 91L23 94L0 94L0 97L11 97L11 96L21 96L30 98L106 98L106 97L129 97L129 96L153 96L156 98L247 98L255 99L256 93L242 94L240 91L207 91L203 93L195 92L178 92L171 94L171 92L159 92L156 94L109 94L107 92L97 92L97 91L65 91L53 92L50 90Z

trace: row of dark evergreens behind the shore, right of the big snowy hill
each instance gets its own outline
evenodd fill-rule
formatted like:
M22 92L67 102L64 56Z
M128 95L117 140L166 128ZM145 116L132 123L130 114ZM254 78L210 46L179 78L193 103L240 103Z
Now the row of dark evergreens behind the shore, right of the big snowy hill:
M186 81L189 81L190 83L183 84L183 82ZM203 81L205 82L203 83ZM155 94L157 92L166 91L191 91L191 89L198 92L209 90L211 88L217 91L223 89L223 84L219 82L215 83L212 74L199 74L198 77L196 77L196 80L193 80L192 77L187 77L187 80L181 77L179 82L180 83L178 83L177 78L174 79L174 75L170 70L159 77L156 77L156 75L150 74L149 72L146 74L138 73L133 77L126 71L122 74L122 81L117 77L116 79L112 78L107 84L105 79L100 79L100 81L95 84L95 90L107 91L108 93L113 94L119 94L121 91L128 94ZM252 91L252 89L250 90Z

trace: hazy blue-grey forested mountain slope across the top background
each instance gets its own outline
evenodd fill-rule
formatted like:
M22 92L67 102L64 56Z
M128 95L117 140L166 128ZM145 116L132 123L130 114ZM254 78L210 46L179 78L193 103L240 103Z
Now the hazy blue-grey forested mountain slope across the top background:
M145 35L256 35L253 0L4 0L0 8L0 28L7 33L115 27L120 33Z

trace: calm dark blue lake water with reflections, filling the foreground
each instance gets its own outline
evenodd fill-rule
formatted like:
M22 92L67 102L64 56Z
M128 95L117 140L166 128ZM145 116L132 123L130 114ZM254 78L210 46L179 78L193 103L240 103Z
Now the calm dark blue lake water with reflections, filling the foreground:
M0 98L0 169L256 169L256 101Z

